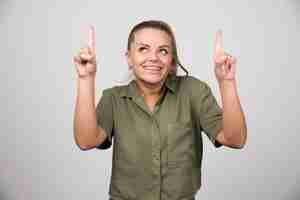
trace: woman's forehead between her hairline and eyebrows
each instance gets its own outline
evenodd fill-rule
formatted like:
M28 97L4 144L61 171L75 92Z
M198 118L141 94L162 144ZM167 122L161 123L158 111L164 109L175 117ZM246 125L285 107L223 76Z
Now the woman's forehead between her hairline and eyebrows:
M134 43L148 45L171 45L171 37L163 30L143 28L134 34Z

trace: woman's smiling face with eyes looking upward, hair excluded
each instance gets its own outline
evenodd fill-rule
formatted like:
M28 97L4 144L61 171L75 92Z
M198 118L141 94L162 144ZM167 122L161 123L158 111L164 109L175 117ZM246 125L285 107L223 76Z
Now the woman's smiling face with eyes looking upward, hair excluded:
M144 28L134 35L134 41L127 52L128 65L137 81L161 84L173 67L171 52L171 38L166 32Z

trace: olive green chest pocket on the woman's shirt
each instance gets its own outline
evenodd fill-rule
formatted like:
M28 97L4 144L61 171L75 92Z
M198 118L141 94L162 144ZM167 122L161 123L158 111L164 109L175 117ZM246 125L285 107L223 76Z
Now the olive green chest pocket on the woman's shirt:
M168 165L177 165L195 158L193 126L191 122L168 124L167 149Z

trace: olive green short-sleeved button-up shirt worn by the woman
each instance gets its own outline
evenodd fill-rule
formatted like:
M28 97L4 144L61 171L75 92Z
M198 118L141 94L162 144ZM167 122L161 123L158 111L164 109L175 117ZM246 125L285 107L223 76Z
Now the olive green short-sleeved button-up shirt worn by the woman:
M169 76L153 112L136 82L103 91L97 123L113 141L109 194L113 200L193 199L201 186L202 131L215 138L222 112L208 85L191 76Z

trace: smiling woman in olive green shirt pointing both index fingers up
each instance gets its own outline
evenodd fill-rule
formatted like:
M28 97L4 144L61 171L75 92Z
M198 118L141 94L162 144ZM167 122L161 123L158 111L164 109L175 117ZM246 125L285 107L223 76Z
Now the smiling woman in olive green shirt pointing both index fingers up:
M129 34L126 52L135 79L103 91L95 108L95 32L74 57L78 96L74 138L82 150L113 145L113 200L194 199L201 186L202 132L219 147L242 148L246 123L235 80L235 58L216 33L213 62L222 110L210 88L177 76L174 34L162 21L144 21Z

